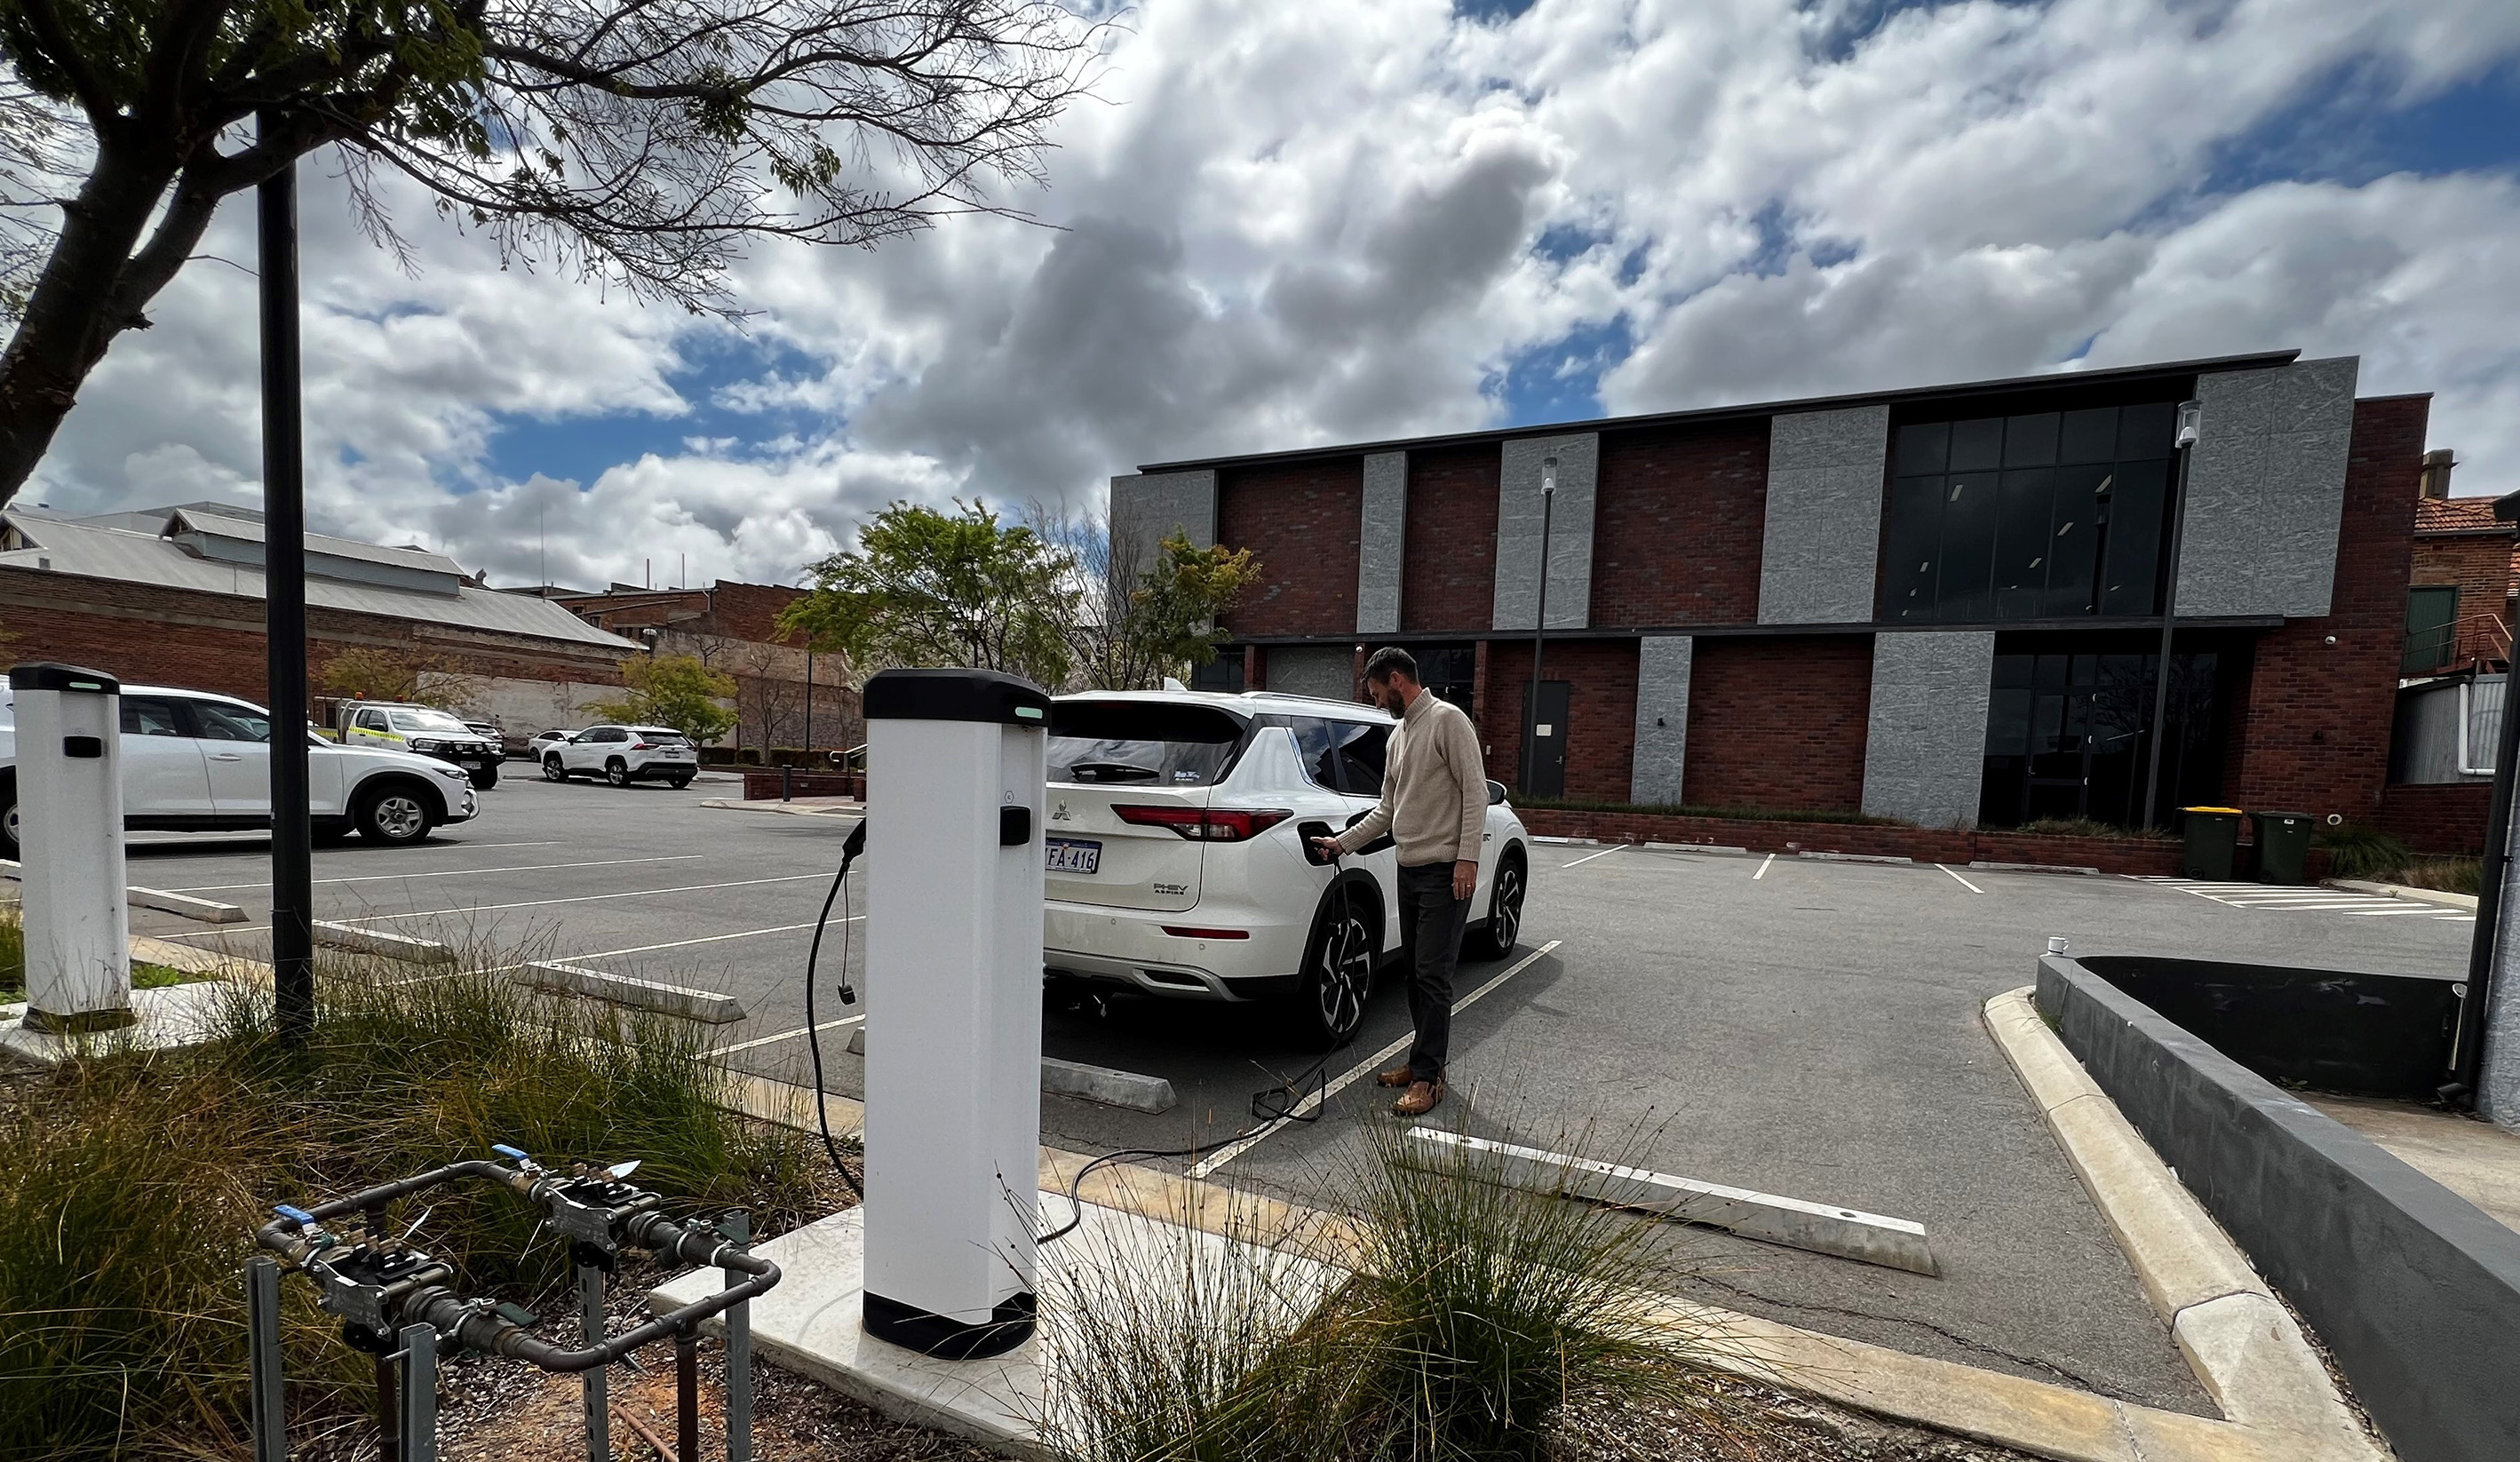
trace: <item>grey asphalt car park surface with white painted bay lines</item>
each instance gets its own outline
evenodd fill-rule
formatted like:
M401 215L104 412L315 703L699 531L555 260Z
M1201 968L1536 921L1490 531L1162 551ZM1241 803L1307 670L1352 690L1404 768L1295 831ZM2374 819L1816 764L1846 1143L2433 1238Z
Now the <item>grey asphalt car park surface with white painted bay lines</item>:
M806 1081L804 960L852 817L711 809L690 789L504 779L481 817L411 849L315 855L318 918L519 950L738 996L721 1026L741 1069ZM260 953L262 839L136 837L131 880L237 902L244 925L134 910L144 933ZM879 834L867 857L882 857ZM1704 1230L1673 1230L1693 1293L1809 1328L2160 1407L2208 1409L2127 1260L2056 1152L1978 1006L2031 978L2049 935L2076 953L2177 953L2386 973L2465 968L2452 910L2334 890L2145 882L1935 865L1537 844L1520 948L1464 963L1454 1091L1474 1134L1583 1147L1661 1172L1850 1205L1925 1225L1940 1275L1913 1275ZM852 877L852 882L862 882ZM862 890L824 945L824 1076L854 1094L864 1006ZM1252 1094L1336 1081L1406 1036L1386 978L1346 1049L1310 1049L1265 1006L1084 1001L1051 1008L1046 1054L1164 1076L1164 1114L1043 1099L1043 1139L1079 1152L1220 1144ZM879 1031L872 1039L882 1039ZM953 1081L953 1071L940 1071ZM1227 1149L1225 1177L1328 1200L1394 1122L1353 1076L1318 1122ZM1187 1167L1189 1160L1152 1160Z

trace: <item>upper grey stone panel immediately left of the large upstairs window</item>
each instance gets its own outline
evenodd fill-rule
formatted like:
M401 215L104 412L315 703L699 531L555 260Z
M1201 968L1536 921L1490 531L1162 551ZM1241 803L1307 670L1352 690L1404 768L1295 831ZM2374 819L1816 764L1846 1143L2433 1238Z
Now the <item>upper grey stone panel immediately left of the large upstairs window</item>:
M1887 451L1887 406L1769 421L1761 625L1872 620Z

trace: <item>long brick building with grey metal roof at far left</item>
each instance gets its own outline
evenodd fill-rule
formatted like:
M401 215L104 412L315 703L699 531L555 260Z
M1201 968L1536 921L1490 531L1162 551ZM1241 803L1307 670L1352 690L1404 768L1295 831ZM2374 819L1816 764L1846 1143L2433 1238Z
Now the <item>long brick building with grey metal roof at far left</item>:
M466 711L564 723L620 693L638 643L559 605L489 590L416 547L307 534L310 678L348 648L386 648L479 681ZM13 658L265 701L262 514L197 502L66 517L0 512L0 630Z

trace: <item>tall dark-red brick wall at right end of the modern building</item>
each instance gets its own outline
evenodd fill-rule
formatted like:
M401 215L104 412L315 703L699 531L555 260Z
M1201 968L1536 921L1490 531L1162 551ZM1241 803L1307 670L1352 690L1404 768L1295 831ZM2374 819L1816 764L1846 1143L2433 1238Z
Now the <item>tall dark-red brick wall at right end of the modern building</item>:
M2230 718L2225 797L2240 807L2336 812L2346 822L2379 814L2407 648L2409 484L2424 459L2429 406L2424 396L2354 403L2331 613L2258 638Z

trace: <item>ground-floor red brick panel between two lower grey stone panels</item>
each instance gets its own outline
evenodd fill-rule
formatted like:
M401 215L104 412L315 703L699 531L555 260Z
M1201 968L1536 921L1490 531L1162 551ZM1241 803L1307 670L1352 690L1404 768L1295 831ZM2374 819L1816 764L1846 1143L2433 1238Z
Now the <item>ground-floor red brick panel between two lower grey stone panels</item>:
M1865 802L1872 635L1698 638L1688 671L1691 807Z

